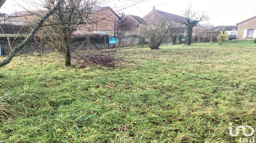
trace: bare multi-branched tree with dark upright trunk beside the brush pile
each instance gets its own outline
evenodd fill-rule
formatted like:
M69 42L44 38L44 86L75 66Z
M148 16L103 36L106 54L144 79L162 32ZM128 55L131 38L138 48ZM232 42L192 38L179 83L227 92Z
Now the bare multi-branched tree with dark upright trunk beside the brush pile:
M46 20L48 26L40 30L40 36L50 47L66 53L66 66L71 65L71 35L80 25L91 22L89 16L97 3L98 0L65 0L51 18ZM52 0L45 0L44 4L48 9L54 6Z

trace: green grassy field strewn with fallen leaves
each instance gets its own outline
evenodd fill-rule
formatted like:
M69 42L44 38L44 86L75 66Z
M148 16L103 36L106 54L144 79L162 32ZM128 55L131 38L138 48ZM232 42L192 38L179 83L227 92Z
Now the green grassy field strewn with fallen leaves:
M120 50L117 68L15 57L0 68L0 140L223 143L244 138L230 122L256 127L253 41L160 48Z

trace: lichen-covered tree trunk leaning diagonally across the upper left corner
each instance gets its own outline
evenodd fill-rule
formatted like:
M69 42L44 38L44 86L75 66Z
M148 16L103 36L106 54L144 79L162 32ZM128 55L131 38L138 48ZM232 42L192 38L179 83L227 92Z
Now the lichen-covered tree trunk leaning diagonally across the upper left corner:
M13 49L13 51L10 53L10 55L8 57L6 57L6 59L4 59L3 61L0 62L0 67L7 65L8 63L11 62L12 58L25 46L30 42L30 39L33 38L33 36L35 35L35 33L39 30L39 28L43 25L44 21L51 16L60 6L60 4L63 2L64 0L60 0L58 1L58 3L53 7L52 10L50 10L47 14L45 14L44 17L42 17L40 19L40 21L34 26L33 30L29 33L29 35L27 36L26 39L24 39L24 41L22 43L20 43L18 45L18 47L16 47L15 49Z

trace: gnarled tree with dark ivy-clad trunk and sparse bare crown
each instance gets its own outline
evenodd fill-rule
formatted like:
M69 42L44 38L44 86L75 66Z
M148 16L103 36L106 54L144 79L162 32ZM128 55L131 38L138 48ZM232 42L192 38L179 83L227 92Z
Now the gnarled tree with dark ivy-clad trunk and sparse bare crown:
M193 28L199 23L200 21L208 20L208 16L204 12L193 12L191 10L191 4L188 6L188 9L185 11L186 22L183 24L186 26L186 44L191 45L192 42L192 34Z

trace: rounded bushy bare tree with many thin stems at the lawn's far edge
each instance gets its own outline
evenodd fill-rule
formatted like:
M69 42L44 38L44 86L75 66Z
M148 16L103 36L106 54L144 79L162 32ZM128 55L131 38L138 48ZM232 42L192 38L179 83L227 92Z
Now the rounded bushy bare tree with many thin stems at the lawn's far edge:
M177 35L180 27L181 24L173 19L158 18L146 23L142 27L142 33L150 38L151 49L159 49L163 42Z

